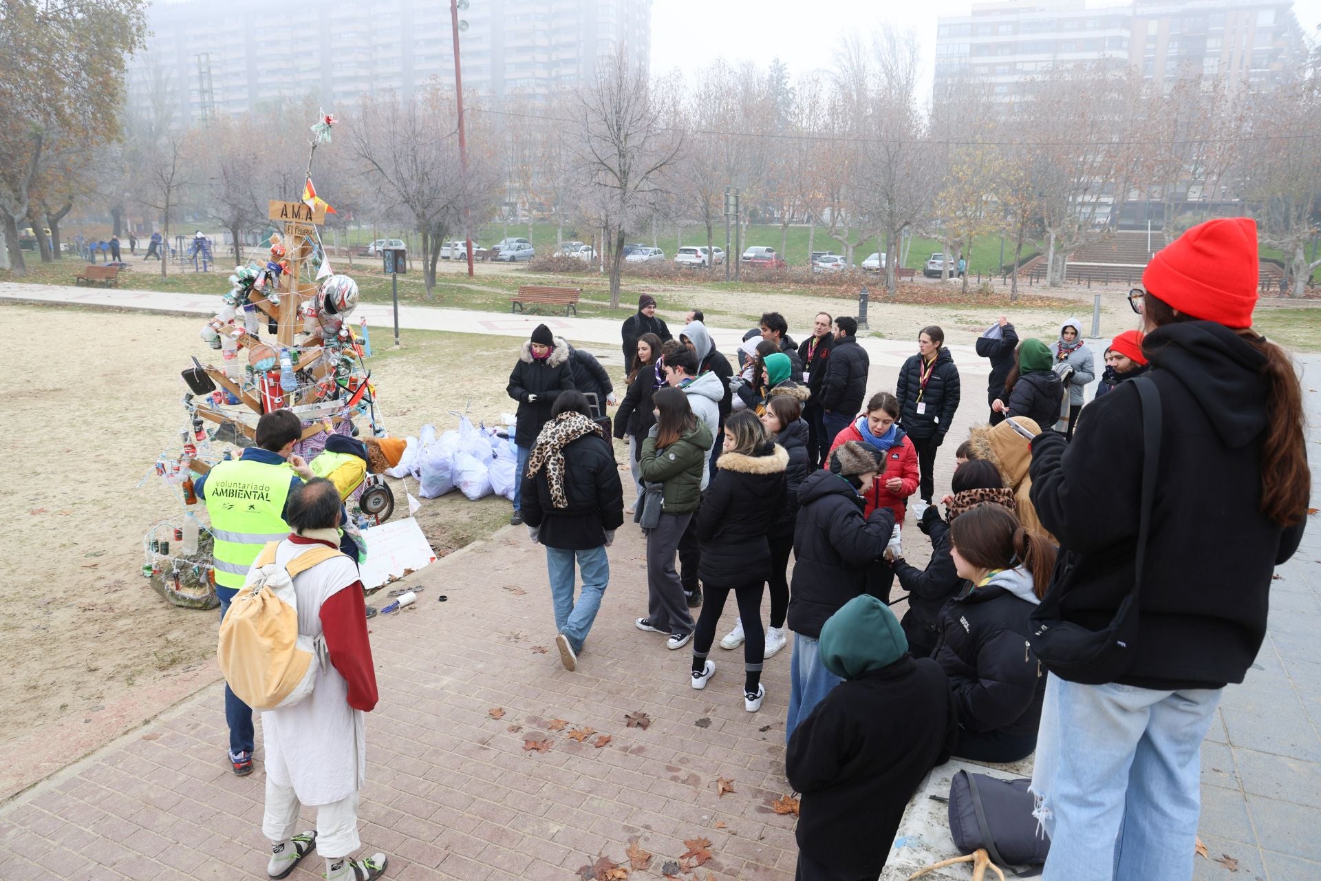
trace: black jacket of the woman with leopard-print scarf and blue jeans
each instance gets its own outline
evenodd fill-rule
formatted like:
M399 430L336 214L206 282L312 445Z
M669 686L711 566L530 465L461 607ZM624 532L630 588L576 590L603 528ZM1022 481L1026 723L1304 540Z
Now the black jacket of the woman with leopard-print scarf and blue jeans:
M588 435L564 446L564 495L568 507L551 501L546 469L523 476L523 520L540 527L538 540L548 548L587 551L605 544L605 532L624 523L624 487L610 441Z

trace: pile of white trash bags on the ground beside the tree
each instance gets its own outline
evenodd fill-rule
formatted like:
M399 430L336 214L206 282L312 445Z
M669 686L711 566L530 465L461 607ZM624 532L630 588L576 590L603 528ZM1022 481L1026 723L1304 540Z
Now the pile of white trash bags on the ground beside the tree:
M399 465L386 472L390 477L412 477L423 498L436 498L458 489L477 501L495 493L514 498L518 448L514 425L495 429L474 427L462 416L457 429L436 437L436 427L421 427L419 437L408 437Z

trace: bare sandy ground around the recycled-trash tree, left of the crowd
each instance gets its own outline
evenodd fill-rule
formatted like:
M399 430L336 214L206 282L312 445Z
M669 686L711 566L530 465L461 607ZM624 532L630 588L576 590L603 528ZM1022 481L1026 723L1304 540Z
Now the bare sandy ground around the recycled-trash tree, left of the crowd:
M98 722L112 737L159 711L157 697L178 692L182 679L214 670L217 613L170 606L141 577L143 535L182 514L153 472L157 453L178 445L180 371L210 350L197 318L25 305L0 314L9 362L26 369L5 395L0 456L0 518L9 524L0 543L0 705L11 708L0 742L77 736ZM391 433L416 435L427 421L454 428L452 409L487 423L513 409L505 383L517 341L410 339L369 362ZM407 511L402 489L395 482L396 516ZM417 516L445 553L509 512L502 498L469 502L456 490L423 499ZM122 719L107 719L116 712Z

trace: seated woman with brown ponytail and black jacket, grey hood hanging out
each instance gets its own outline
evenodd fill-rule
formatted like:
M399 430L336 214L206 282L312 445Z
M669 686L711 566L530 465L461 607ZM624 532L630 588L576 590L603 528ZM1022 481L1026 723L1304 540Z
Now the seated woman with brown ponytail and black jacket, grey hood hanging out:
M941 610L931 656L959 705L954 754L1016 762L1037 746L1046 679L1028 634L1050 584L1055 548L1022 528L1009 509L983 503L950 523L950 556L968 588Z

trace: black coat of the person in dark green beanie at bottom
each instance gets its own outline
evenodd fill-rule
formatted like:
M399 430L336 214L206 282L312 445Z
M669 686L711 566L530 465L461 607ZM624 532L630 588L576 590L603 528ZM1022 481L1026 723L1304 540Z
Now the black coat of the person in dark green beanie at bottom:
M799 849L839 877L880 874L909 799L954 750L955 713L929 658L905 654L835 686L785 753L790 786L802 793Z

